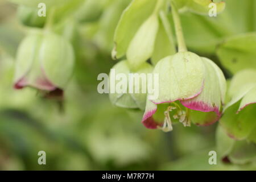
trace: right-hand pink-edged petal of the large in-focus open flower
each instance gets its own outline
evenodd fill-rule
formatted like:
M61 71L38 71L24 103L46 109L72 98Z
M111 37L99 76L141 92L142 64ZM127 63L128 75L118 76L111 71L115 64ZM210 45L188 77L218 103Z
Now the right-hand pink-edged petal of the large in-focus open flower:
M223 73L216 64L204 57L203 61L205 65L205 84L203 91L195 98L180 102L188 109L193 110L191 111L193 123L206 126L218 121L221 117L226 82Z

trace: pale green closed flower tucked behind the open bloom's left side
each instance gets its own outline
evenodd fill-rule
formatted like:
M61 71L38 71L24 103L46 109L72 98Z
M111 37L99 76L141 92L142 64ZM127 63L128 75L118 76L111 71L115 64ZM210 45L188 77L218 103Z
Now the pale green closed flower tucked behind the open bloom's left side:
M152 71L153 67L148 63L143 63L136 72L131 71L127 60L115 64L109 74L109 98L112 104L143 110L147 100L146 76Z

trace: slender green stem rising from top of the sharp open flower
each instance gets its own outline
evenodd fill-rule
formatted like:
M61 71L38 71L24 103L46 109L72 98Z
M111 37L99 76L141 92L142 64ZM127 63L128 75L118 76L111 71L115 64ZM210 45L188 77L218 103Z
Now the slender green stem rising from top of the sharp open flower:
M185 40L183 36L183 31L180 23L180 16L173 1L171 1L171 7L172 7L172 16L174 18L174 26L175 26L175 32L177 37L177 43L178 43L178 51L186 52L188 50L187 50L187 46L185 44Z

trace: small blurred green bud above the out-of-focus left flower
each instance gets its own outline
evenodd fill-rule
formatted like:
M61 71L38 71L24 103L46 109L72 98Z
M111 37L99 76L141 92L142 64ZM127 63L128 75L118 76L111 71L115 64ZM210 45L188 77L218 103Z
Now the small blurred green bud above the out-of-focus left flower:
M42 28L46 22L46 16L38 16L38 9L19 6L18 18L26 26Z

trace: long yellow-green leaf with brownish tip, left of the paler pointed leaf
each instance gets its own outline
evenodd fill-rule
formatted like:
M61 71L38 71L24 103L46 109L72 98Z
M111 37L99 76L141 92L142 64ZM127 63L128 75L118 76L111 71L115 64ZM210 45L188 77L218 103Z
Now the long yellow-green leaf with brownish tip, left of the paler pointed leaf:
M119 59L125 55L131 39L141 24L152 14L156 1L133 0L123 11L114 35L115 48L112 57Z

